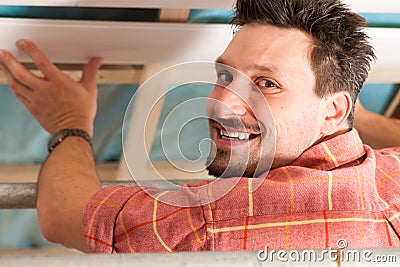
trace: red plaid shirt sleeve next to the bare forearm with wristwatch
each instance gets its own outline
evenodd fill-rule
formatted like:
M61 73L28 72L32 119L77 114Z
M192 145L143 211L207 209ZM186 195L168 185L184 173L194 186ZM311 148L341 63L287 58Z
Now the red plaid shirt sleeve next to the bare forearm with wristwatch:
M202 250L206 227L201 206L173 206L154 198L191 194L136 186L112 186L98 191L86 206L83 235L92 252L160 252ZM191 195L192 197L192 195Z

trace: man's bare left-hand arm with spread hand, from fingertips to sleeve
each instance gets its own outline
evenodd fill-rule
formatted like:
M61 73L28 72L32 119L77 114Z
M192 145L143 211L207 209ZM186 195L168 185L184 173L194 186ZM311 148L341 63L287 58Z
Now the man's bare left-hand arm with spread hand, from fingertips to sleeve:
M90 60L80 82L55 67L30 41L18 42L44 77L0 50L1 68L15 96L40 125L54 135L61 129L79 128L93 135L96 113L96 74L101 60ZM90 145L68 137L48 156L39 173L37 211L43 235L52 242L88 251L82 235L82 216L90 197L100 189Z

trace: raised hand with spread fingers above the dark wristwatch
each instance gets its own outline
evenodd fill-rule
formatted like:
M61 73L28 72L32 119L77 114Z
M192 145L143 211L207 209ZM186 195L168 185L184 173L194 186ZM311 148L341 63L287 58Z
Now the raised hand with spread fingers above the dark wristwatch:
M17 46L44 76L33 74L10 52L0 50L0 65L15 96L51 135L65 128L78 128L92 136L101 58L92 58L83 69L82 79L76 82L52 64L33 42L20 40Z

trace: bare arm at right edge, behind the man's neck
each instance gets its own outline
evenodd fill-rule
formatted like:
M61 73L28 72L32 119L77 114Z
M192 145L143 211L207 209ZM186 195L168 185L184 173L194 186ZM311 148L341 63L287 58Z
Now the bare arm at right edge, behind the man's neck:
M359 101L354 114L354 127L364 143L376 149L400 146L400 120L370 112Z

